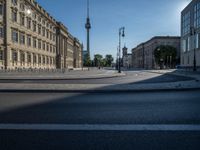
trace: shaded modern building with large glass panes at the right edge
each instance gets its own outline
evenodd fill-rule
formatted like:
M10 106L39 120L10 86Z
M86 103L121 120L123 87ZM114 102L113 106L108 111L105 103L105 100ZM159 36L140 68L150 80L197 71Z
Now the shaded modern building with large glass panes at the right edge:
M193 68L194 56L200 67L200 0L192 0L181 13L181 65Z

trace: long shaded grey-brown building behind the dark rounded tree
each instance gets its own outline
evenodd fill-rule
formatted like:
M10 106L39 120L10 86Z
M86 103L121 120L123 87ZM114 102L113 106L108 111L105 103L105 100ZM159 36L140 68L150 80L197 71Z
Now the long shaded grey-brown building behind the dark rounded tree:
M156 69L154 51L157 47L172 46L177 50L177 64L180 60L180 37L176 36L156 36L145 43L141 43L132 49L132 67L144 69Z

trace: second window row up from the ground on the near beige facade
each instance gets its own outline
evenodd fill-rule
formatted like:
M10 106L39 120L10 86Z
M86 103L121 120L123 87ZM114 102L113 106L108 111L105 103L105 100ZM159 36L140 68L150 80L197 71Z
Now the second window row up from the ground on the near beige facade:
M12 30L12 41L29 47L38 48L40 50L46 50L51 53L56 53L56 47L45 41L32 37L31 35L25 35L17 30Z

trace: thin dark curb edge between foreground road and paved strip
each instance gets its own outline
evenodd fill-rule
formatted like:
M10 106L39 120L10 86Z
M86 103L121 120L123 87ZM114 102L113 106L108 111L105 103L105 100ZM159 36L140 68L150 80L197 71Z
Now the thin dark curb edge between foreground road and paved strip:
M51 89L0 89L0 93L144 93L144 92L181 92L199 91L200 88L171 88L171 89L94 89L94 90L51 90Z

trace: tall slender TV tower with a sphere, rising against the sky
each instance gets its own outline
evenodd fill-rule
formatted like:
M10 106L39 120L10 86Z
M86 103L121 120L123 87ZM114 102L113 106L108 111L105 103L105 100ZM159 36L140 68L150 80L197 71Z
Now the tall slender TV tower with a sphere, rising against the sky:
M91 24L90 24L90 16L89 16L90 9L89 8L90 8L89 0L87 0L87 19L86 19L85 28L87 30L87 53L88 53L88 56L90 57L90 29L91 29Z

